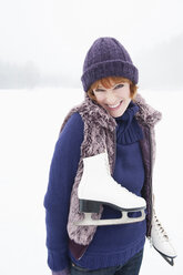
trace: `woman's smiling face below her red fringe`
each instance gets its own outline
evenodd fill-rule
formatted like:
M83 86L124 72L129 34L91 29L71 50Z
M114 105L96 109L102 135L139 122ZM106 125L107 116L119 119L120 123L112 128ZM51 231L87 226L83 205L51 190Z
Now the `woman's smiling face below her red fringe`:
M111 89L100 84L93 90L98 103L113 118L121 116L131 102L130 84L128 82L112 83Z

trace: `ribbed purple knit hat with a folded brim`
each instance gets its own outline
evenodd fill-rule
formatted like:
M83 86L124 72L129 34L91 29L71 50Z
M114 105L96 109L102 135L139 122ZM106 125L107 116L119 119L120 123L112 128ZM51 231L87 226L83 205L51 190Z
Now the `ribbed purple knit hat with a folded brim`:
M108 77L123 77L138 83L138 69L125 48L114 38L99 38L89 49L81 81L87 92L96 80Z

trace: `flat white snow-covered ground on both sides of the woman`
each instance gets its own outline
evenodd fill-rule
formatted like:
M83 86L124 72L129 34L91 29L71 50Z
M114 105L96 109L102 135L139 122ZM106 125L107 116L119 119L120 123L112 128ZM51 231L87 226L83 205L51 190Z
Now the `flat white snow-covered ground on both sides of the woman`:
M145 244L141 275L183 274L183 90L139 91L156 124L156 214L179 257L171 267ZM43 196L61 123L83 100L75 89L0 90L0 274L49 275Z

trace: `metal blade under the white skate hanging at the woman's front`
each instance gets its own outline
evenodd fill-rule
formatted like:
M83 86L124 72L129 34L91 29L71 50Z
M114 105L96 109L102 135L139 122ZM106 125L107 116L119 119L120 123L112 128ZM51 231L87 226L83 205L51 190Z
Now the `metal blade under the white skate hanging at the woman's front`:
M132 211L131 211L132 212ZM135 211L136 212L136 211ZM111 220L93 220L91 217L92 213L84 213L84 218L83 221L79 221L74 223L74 225L115 225L115 224L129 224L129 223L138 223L142 222L145 220L145 211L141 210L141 216L139 217L129 217L128 212L122 212L122 217L121 218L111 218Z

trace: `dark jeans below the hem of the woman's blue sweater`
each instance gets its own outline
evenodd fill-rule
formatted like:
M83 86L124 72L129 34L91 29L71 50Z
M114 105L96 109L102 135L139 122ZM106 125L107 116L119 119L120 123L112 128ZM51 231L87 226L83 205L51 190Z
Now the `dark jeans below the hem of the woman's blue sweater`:
M105 267L95 271L90 271L79 266L71 266L71 275L138 275L141 268L143 257L143 249L136 253L124 265L118 265L113 267Z

